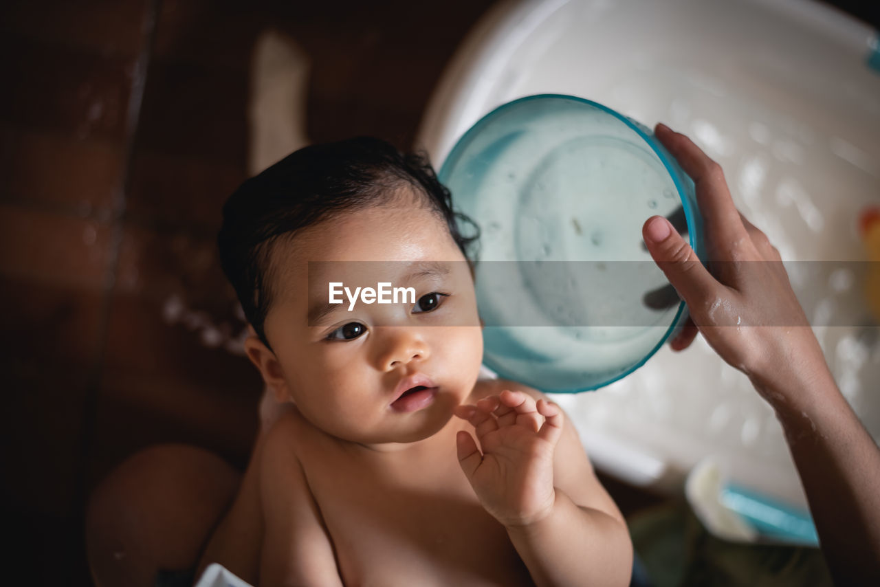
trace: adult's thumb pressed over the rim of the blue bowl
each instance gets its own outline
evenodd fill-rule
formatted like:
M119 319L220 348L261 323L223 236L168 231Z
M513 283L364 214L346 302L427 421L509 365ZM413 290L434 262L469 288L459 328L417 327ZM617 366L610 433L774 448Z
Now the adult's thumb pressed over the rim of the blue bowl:
M718 282L700 263L697 253L663 216L651 216L642 226L642 238L651 258L672 287L693 310L715 299Z

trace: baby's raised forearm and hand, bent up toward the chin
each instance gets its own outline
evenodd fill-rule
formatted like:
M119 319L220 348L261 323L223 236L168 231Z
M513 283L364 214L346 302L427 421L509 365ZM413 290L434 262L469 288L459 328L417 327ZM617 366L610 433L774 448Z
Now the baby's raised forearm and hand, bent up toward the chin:
M481 449L458 433L462 470L536 584L629 582L627 525L560 407L534 390L503 391L457 415L474 425Z

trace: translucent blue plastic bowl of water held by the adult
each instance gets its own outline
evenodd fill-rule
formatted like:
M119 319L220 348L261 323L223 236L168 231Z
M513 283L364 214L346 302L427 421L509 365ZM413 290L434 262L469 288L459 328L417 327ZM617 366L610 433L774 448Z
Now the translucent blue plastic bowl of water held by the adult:
M480 225L484 362L502 377L550 393L596 389L686 319L642 224L677 219L703 258L693 181L642 124L574 96L517 99L459 139L439 178Z

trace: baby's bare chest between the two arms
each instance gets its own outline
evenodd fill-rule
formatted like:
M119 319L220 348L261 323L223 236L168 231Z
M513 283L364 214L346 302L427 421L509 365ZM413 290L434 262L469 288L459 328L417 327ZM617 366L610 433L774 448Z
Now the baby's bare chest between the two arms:
M345 584L532 585L454 449L448 459L409 472L354 461L328 465L304 463Z

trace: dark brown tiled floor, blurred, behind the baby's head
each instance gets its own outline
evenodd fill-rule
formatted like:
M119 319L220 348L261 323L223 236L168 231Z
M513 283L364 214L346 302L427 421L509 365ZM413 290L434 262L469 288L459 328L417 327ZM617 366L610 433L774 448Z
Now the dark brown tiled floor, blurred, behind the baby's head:
M7 1L0 7L4 520L21 584L91 584L84 503L133 452L244 466L260 378L216 260L248 175L254 40L311 62L305 133L412 146L490 0ZM832 2L875 28L876 3ZM604 477L625 513L662 497ZM21 573L21 576L16 576Z

